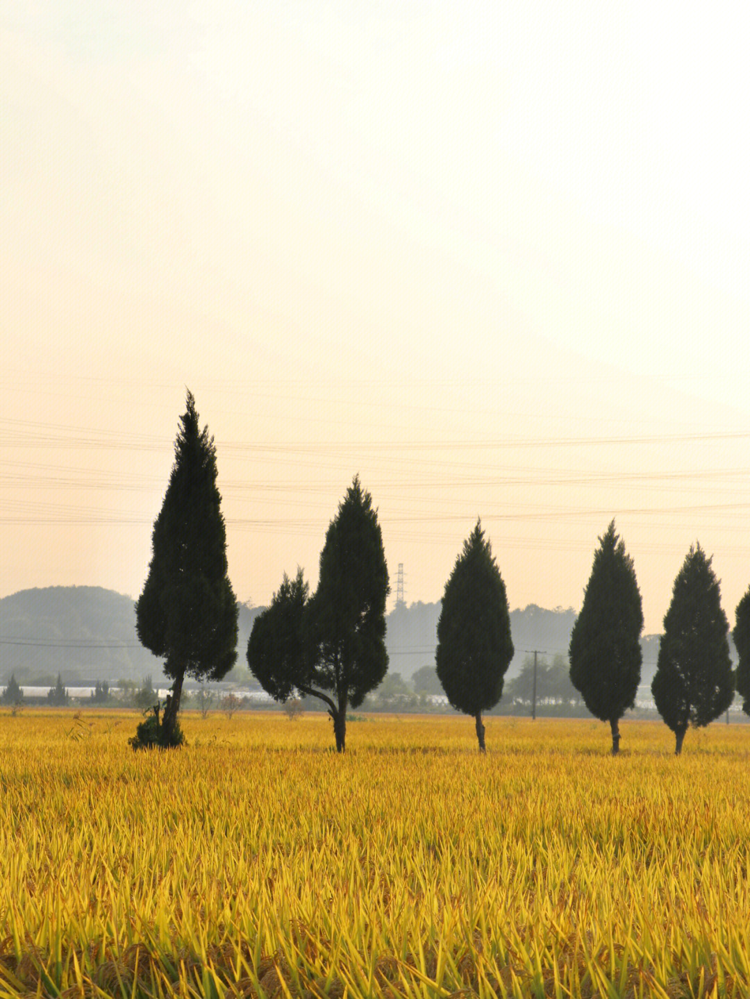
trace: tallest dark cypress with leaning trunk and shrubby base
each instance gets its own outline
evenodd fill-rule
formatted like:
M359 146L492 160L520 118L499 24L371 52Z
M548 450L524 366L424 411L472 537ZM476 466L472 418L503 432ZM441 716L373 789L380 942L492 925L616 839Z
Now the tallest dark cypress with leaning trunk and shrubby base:
M161 720L156 713L157 731L147 739L162 746L181 741L177 712L185 676L220 680L237 657L238 609L227 575L216 447L208 427L200 429L190 392L180 423L175 464L154 523L149 574L136 604L138 637L164 657L173 681Z

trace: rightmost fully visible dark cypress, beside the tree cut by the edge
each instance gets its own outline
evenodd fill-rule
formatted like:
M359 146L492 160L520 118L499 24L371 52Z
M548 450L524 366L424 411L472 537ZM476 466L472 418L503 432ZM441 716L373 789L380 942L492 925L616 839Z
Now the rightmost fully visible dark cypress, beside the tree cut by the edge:
M700 544L691 545L674 580L651 683L656 708L675 734L676 754L688 724L703 727L732 703L728 633L711 559Z

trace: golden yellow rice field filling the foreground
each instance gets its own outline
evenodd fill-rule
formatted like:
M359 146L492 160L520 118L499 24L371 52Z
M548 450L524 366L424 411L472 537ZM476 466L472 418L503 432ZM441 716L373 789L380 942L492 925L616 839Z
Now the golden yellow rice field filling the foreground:
M0 997L750 995L750 726L0 712Z

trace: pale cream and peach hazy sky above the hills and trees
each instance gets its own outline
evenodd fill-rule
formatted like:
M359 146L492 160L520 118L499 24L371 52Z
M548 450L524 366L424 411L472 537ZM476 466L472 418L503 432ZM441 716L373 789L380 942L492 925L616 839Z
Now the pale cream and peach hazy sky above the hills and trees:
M646 631L750 584L750 11L6 2L0 596L137 596L186 390L230 577L315 586L356 474L393 594L477 516L511 608L614 517Z

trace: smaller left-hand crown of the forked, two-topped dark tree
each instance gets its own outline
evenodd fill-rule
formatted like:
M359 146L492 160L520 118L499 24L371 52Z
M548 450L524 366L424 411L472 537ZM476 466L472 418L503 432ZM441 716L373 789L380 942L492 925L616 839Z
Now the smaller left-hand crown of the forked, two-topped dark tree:
M248 642L248 665L263 689L284 703L295 688L309 686L311 666L306 635L309 587L303 570L285 573L270 606L256 617Z

